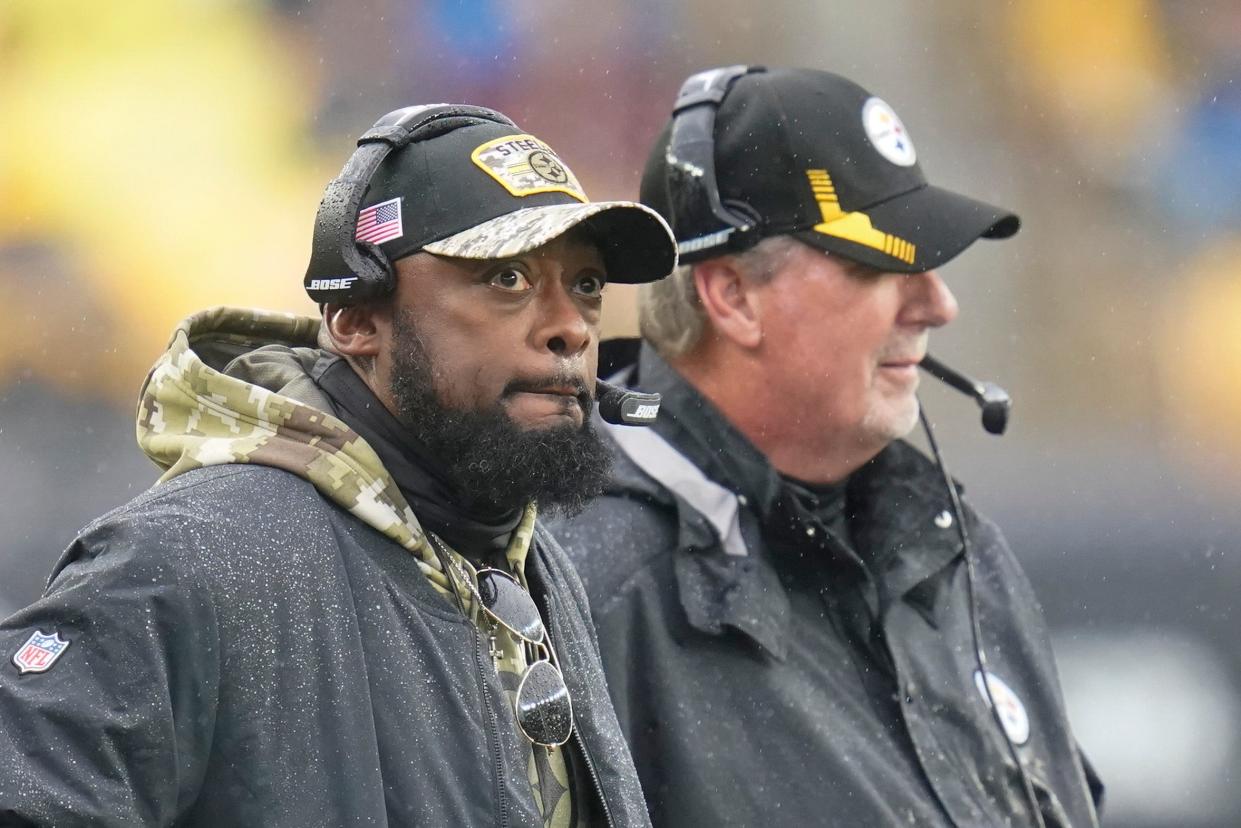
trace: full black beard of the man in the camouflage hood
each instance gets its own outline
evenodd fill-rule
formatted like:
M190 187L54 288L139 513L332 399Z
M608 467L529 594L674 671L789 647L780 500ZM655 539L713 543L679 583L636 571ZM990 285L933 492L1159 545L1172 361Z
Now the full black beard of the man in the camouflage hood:
M439 461L436 473L465 499L462 505L509 511L535 500L542 514L572 515L602 494L612 456L591 423L593 401L585 387L578 395L581 426L535 430L515 423L499 400L488 408L446 405L434 374L408 315L397 313L391 386L397 420ZM581 387L576 377L542 382Z

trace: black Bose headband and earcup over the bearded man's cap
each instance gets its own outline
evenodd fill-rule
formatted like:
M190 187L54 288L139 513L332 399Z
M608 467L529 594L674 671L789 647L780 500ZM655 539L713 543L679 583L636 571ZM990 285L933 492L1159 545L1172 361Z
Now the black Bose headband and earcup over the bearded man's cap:
M385 158L410 143L485 122L516 129L513 120L494 109L441 103L390 112L357 139L357 149L340 175L328 184L319 202L310 264L303 281L313 300L357 304L392 292L396 284L392 262L379 245L354 238L357 209L371 176Z

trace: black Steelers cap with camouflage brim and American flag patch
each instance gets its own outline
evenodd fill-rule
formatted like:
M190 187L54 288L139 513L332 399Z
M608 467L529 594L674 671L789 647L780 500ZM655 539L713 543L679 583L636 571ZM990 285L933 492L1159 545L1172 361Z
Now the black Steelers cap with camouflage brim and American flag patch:
M490 259L516 256L582 226L611 282L652 282L676 266L663 217L633 201L591 202L545 142L493 122L414 140L375 171L356 238L396 261L426 251Z

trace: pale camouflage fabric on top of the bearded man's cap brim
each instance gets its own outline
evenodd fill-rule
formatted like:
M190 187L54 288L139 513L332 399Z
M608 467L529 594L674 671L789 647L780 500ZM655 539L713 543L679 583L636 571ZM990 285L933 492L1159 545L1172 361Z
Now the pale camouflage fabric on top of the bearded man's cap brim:
M640 210L664 220L650 207L633 201L597 201L594 204L561 204L547 207L526 207L510 212L422 250L457 258L505 258L517 256L562 236L570 228L607 210Z

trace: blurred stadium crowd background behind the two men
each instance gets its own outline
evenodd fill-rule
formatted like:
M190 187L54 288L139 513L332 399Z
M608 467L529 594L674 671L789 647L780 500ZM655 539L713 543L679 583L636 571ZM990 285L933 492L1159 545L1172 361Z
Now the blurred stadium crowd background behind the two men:
M745 62L856 78L932 178L1023 216L1015 241L948 268L963 313L933 339L1006 384L1013 433L989 442L967 403L925 401L1041 578L1112 824L1235 824L1241 648L1230 591L1195 592L1241 577L1235 0L9 0L0 614L154 480L132 411L176 320L314 310L319 194L380 114L490 106L592 197L633 197L680 79ZM608 330L632 333L632 297L607 304ZM1181 756L1217 785L1176 776Z

